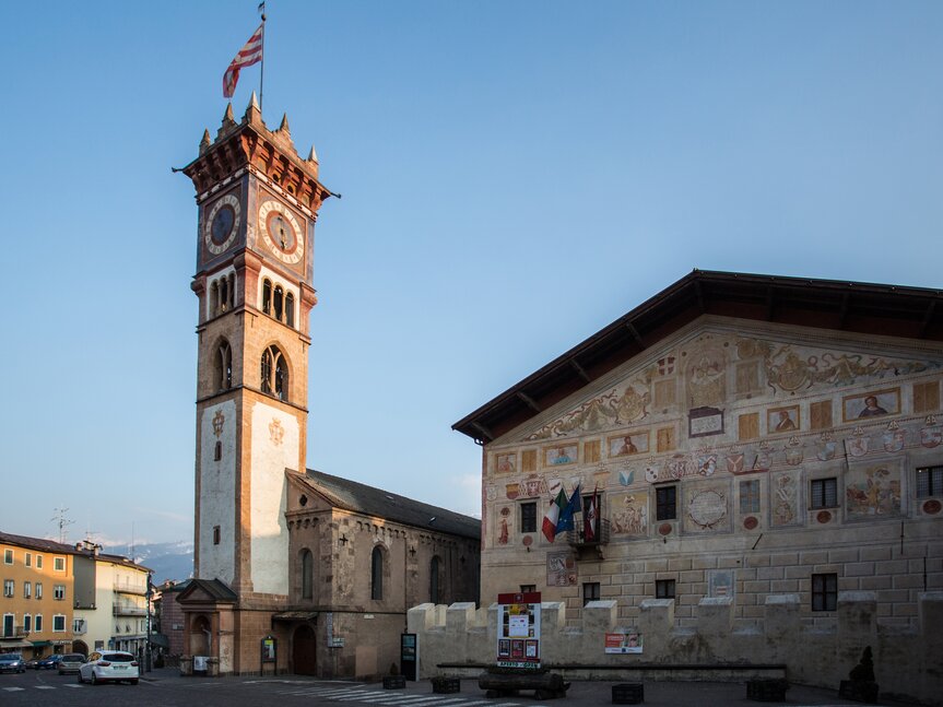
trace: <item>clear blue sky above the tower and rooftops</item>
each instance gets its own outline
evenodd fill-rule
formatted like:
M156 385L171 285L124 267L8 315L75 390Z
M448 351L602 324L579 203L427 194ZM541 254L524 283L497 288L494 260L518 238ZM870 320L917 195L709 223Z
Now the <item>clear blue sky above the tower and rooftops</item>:
M170 168L220 127L256 5L7 8L2 531L192 541ZM694 268L940 288L940 37L936 1L270 0L263 119L343 195L308 467L480 515L451 425Z

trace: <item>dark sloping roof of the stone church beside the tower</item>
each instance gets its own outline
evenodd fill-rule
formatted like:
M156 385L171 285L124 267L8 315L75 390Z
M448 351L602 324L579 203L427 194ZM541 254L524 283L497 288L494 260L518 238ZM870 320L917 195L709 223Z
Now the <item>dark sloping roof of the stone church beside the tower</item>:
M481 538L481 520L478 518L314 469L307 470L306 480L332 505L345 510L394 520L424 530L462 538Z

